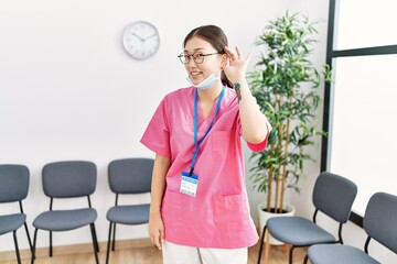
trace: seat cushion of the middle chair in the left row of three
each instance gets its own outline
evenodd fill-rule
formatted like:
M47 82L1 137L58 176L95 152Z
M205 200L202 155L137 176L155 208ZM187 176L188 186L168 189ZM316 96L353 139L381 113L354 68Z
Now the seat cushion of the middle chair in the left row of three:
M33 226L47 231L67 231L94 223L96 219L97 212L93 208L53 210L39 215Z

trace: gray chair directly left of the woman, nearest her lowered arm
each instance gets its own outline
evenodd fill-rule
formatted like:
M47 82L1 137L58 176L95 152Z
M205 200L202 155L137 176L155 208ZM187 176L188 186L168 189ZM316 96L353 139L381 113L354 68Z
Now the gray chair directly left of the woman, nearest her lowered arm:
M110 222L106 263L109 263L111 237L111 250L115 250L117 223L132 226L149 222L149 204L119 205L119 196L150 193L153 164L152 158L132 157L115 160L108 165L109 186L116 194L116 200L106 216Z

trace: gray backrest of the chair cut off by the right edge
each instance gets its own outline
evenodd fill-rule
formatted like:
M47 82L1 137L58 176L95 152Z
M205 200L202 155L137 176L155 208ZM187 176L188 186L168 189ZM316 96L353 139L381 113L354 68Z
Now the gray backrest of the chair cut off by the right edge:
M374 194L366 207L363 227L371 238L397 253L397 196Z

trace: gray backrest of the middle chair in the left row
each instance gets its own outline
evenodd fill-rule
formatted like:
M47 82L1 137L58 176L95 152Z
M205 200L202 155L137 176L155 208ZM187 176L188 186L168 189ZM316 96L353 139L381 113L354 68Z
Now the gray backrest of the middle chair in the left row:
M51 198L89 196L95 191L97 167L86 161L49 163L42 172L44 194Z

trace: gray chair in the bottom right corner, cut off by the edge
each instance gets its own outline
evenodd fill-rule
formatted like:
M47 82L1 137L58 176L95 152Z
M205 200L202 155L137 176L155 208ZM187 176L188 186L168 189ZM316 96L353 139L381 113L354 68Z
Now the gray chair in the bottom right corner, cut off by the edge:
M342 244L318 244L308 250L312 264L375 264L379 263L368 255L369 241L373 239L394 253L397 253L397 196L376 193L365 209L363 228L367 233L364 251Z

